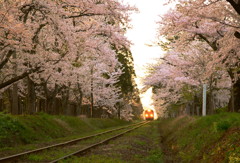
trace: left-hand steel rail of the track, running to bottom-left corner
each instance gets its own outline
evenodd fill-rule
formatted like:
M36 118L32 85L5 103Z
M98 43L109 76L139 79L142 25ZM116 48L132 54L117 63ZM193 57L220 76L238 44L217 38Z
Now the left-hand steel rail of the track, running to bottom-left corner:
M128 127L133 127L133 126L136 126L136 125L139 125L139 124L143 124L143 123L145 123L145 122L140 122L140 123L135 123L135 124L131 124L131 125L126 125L126 126L123 126L123 127L107 130L107 131L100 132L100 133L97 133L97 134L93 134L93 135L89 135L89 136L85 136L85 137L69 140L69 141L58 143L58 144L54 144L54 145L49 145L49 146L37 148L37 149L26 151L26 152L21 152L21 153L10 155L10 156L6 156L6 157L2 157L2 158L0 158L0 162L9 162L11 160L16 160L17 158L22 157L24 155L40 152L40 151L43 151L43 150L46 150L46 149L50 149L50 148L54 148L54 147L70 145L70 144L77 143L77 142L82 141L82 140L90 139L92 137L100 136L100 135L103 135L103 134L107 134L107 133L110 133L110 132L113 132L113 131L125 129L125 128L128 128Z

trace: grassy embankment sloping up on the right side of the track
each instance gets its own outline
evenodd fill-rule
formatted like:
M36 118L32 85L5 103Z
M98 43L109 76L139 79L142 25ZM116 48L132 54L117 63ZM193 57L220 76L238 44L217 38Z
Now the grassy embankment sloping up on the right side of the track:
M240 162L240 114L160 121L165 161Z

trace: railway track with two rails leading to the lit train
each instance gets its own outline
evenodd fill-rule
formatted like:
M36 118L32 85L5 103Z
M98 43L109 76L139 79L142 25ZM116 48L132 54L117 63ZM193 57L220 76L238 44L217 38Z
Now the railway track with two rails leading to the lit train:
M125 133L128 133L134 129L137 129L139 127L141 127L142 125L145 125L148 122L140 122L140 123L136 123L136 124L132 124L132 125L127 125L124 127L119 127L116 129L111 129L111 130L107 130L104 132L100 132L97 134L93 134L90 136L86 136L86 137L81 137L81 138L77 138L77 139L73 139L70 141L66 141L63 143L58 143L58 144L54 144L54 145L50 145L50 146L46 146L46 147L42 147L42 148L38 148L38 149L34 149L34 150L30 150L30 151L26 151L26 152L22 152L22 153L18 153L18 154L14 154L11 156L6 156L3 158L0 158L0 162L25 162L22 161L21 158L26 157L27 155L31 155L31 154L35 154L35 153L39 153L39 152L43 152L43 151L49 151L49 150L54 150L56 148L63 148L63 147L68 147L68 146L73 146L74 144L77 143L81 143L82 141L87 141L89 139L100 139L97 140L97 142L91 143L91 144L87 144L85 146L82 146L78 149L75 149L73 152L68 153L60 158L57 158L55 160L52 159L52 161L47 161L47 162L58 162L60 160L64 160L66 158L69 158L73 155L79 155L79 154L83 154L84 152L89 151L90 149L99 146L101 144L107 143L110 140L113 140L117 137L120 137L122 135L124 135ZM122 131L123 130L123 131ZM106 138L106 135L108 138ZM101 138L102 136L104 136L104 138Z

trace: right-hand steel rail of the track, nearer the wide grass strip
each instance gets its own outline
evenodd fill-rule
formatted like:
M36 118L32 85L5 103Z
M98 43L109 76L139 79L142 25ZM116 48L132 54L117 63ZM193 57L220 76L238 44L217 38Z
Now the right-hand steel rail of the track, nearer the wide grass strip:
M114 135L114 136L112 136L112 137L110 137L110 138L107 138L107 139L105 139L105 140L102 140L102 141L100 141L100 142L98 142L98 143L89 145L88 147L85 147L85 148L83 148L83 149L80 149L80 150L78 150L78 151L75 151L75 152L73 152L73 153L70 153L70 154L68 154L68 155L65 155L65 156L63 156L63 157L61 157L61 158L58 158L58 159L56 159L56 160L53 160L53 161L51 161L51 162L49 162L49 163L56 163L56 162L58 162L58 161L67 159L67 158L69 158L69 157L71 157L71 156L83 154L84 152L87 152L87 151L89 151L89 150L91 150L91 149L93 149L93 148L95 148L95 147L97 147L97 146L99 146L99 145L105 144L105 143L109 142L110 140L116 139L116 138L118 138L118 137L120 137L120 136L122 136L122 135L124 135L124 134L126 134L126 133L128 133L128 132L130 132L130 131L133 131L133 130L135 130L135 129L137 129L137 128L139 128L139 127L141 127L141 126L143 126L143 125L145 125L145 124L147 124L147 123L149 123L149 121L148 121L148 122L143 122L142 124L138 125L137 127L134 127L134 128L129 129L129 130L126 130L126 131L124 131L124 132L122 132L122 133L120 133L120 134Z

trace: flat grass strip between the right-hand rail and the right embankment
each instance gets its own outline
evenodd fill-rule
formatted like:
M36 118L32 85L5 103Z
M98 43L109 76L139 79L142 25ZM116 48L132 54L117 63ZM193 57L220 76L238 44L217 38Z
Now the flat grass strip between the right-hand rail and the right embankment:
M64 162L162 163L158 124L158 121L151 122L93 150L91 155L72 157Z

